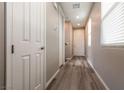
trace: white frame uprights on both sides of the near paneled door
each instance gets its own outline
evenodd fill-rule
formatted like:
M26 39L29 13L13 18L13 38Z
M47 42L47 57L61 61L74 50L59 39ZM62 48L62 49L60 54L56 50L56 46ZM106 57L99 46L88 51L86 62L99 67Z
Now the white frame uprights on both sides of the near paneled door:
M6 50L6 86L5 89L12 89L12 57L11 46L13 44L13 31L12 31L12 2L5 3L5 50ZM44 62L43 62L43 89L46 86L46 3L43 2L44 8ZM11 10L10 10L11 9ZM10 12L11 11L11 12ZM9 16L8 16L9 13ZM11 16L10 16L11 15Z

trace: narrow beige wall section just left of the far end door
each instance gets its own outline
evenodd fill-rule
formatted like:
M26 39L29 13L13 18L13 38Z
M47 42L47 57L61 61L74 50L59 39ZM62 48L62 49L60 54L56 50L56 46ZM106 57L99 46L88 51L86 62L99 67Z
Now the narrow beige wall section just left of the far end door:
M65 22L65 42L68 43L67 46L65 46L65 57L71 58L73 56L72 54L72 24L71 22Z

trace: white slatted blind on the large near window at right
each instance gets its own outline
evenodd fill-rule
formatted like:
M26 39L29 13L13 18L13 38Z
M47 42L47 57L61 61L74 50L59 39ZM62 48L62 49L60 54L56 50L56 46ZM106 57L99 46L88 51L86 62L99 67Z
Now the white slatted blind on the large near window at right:
M114 4L102 18L102 44L124 46L124 3Z

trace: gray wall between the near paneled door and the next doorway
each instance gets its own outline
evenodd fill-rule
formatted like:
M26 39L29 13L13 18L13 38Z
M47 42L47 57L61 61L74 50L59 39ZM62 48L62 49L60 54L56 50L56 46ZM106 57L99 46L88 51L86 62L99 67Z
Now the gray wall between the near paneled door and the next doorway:
M46 3L46 80L59 67L58 12L52 3Z

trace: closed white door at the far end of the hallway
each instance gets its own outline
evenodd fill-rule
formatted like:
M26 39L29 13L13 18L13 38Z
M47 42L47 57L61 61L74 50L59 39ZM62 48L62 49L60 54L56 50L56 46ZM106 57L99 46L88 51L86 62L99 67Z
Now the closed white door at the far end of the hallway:
M84 56L84 30L74 30L73 53L74 56Z

